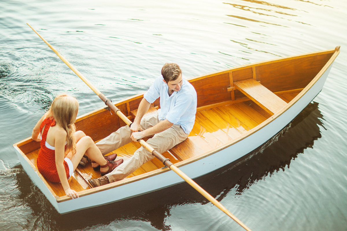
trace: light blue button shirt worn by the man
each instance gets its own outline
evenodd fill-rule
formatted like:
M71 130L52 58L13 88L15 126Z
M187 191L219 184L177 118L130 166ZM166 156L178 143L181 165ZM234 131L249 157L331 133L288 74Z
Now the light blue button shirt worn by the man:
M189 134L195 122L197 97L193 85L183 78L182 81L181 89L169 96L167 83L163 81L163 77L158 77L143 97L149 103L160 97L158 119L167 119L173 124L180 125L184 132Z

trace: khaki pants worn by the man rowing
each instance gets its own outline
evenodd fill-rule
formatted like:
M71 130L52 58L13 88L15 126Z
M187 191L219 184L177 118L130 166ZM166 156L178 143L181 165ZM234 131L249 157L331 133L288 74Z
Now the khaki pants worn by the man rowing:
M158 119L158 114L153 114L142 118L141 127L145 130L147 128L153 127L160 121ZM103 155L112 152L119 147L132 142L130 138L131 135L130 127L128 125L119 128L116 132L111 133L109 136L105 137L96 146L100 149ZM186 134L179 125L172 125L167 130L155 134L152 138L148 139L146 142L156 149L158 152L163 153L174 147L176 144L187 139L188 134ZM132 157L124 161L115 170L106 174L110 183L124 179L129 174L138 169L145 162L153 159L154 156L143 146L137 149Z

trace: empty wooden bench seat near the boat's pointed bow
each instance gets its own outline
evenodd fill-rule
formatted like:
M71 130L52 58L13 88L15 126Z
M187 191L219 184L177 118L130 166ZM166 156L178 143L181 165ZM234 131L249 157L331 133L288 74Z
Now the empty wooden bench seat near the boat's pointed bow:
M252 99L257 105L262 107L271 115L275 114L287 105L284 100L261 85L255 79L237 81L234 82L234 86L237 90L241 91L248 98Z

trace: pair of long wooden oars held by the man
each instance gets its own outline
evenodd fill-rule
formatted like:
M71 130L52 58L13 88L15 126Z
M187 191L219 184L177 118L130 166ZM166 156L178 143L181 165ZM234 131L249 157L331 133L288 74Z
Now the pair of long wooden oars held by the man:
M81 74L69 61L67 61L56 49L54 49L51 44L49 44L37 31L32 28L28 23L27 25L34 30L34 32L39 35L39 37L45 42L51 49L56 53L59 58L73 71L75 72L79 78L81 78L94 92L99 96L104 103L109 106L127 125L130 125L132 122L118 109L114 104L112 104L111 100L104 96L98 89L96 89L91 82L89 82L83 74ZM140 144L144 146L148 151L152 153L153 156L158 158L164 165L169 167L172 171L176 172L178 176L184 179L189 185L195 188L201 195L203 195L206 199L208 199L212 204L217 206L221 211L230 216L234 221L236 221L239 225L241 225L245 230L251 231L244 223L242 223L236 216L232 215L221 203L219 203L213 196L211 196L208 192L206 192L202 187L195 183L194 180L189 178L184 172L179 170L173 163L170 162L169 159L166 159L162 156L157 150L153 149L149 144L147 144L144 140L139 140Z

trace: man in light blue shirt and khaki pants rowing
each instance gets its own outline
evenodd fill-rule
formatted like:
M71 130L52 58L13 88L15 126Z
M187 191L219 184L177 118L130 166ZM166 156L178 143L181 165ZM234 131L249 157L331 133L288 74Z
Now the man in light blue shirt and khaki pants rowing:
M184 141L191 132L196 114L196 91L182 78L182 71L176 63L166 63L161 69L162 77L156 78L153 85L144 94L138 106L134 123L119 128L105 139L96 143L101 153L107 154L131 141L154 135L147 140L158 152L163 153ZM143 118L156 99L160 97L160 109L157 114ZM93 187L124 179L154 156L144 147L124 161L112 172L97 179L90 179Z

